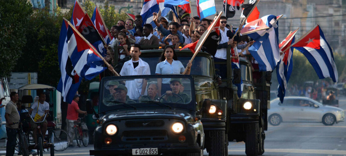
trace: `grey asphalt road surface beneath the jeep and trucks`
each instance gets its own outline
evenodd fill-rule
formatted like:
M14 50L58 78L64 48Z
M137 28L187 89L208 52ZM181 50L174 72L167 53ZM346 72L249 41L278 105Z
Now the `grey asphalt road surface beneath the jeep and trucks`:
M339 100L346 111L346 97ZM269 126L265 139L264 156L346 156L346 122L325 126L322 123L281 123ZM56 156L87 156L93 145L67 148ZM5 151L0 151L4 155ZM44 153L49 156L49 152ZM204 156L208 153L204 150ZM229 142L229 156L246 156L244 142Z

